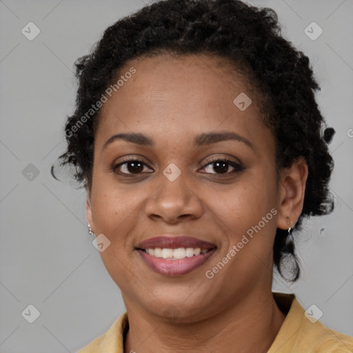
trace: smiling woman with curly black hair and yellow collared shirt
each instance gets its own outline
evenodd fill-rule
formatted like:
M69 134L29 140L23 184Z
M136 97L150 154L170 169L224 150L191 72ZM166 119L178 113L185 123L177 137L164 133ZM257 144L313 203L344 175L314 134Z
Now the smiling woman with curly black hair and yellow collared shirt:
M105 30L77 77L61 163L127 310L80 353L353 352L317 307L272 293L273 267L299 278L303 217L333 210L334 133L272 10L157 1Z

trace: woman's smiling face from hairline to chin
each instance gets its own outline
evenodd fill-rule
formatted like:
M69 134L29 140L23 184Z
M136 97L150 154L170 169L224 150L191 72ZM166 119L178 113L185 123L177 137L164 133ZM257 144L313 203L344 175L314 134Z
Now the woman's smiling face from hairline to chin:
M101 108L87 203L126 307L190 321L270 290L286 189L250 86L201 54L130 68Z

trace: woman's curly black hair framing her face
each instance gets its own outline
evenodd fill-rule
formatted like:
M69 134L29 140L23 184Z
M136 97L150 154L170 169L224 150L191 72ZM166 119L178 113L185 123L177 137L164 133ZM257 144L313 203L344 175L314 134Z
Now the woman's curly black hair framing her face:
M327 144L334 129L326 128L315 101L320 88L310 61L283 38L274 10L238 0L155 1L107 28L90 54L75 63L79 88L76 110L65 123L68 148L59 157L61 166L72 166L74 178L90 188L100 110L83 117L130 59L165 53L218 56L231 61L235 71L245 72L263 97L264 123L276 143L276 171L300 157L308 166L303 210L294 230L302 229L303 217L332 212L328 183L334 163ZM294 240L287 230L276 230L273 260L283 277L283 265L289 264L286 279L299 278Z

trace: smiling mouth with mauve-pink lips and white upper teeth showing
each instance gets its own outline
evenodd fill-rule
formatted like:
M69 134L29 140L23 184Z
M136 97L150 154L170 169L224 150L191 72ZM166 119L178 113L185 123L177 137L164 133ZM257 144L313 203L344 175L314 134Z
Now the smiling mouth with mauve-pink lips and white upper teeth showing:
M157 236L135 250L154 272L180 276L203 265L216 252L216 245L190 236Z

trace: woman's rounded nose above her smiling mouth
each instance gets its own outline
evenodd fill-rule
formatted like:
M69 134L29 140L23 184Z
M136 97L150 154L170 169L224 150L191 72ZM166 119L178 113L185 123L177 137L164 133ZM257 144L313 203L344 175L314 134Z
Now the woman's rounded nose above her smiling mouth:
M199 219L203 212L203 204L192 187L186 185L182 174L174 181L161 174L161 183L150 195L146 205L147 216L154 221L179 223Z

